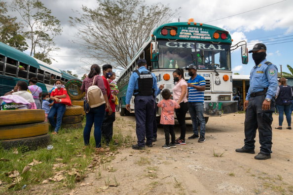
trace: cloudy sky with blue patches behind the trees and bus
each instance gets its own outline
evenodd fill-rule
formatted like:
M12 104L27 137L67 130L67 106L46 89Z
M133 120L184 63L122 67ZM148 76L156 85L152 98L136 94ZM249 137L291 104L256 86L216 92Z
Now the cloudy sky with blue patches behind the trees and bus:
M41 0L52 10L62 24L63 33L55 38L57 52L52 53L60 69L72 70L82 75L85 67L94 63L91 59L82 58L78 51L80 45L73 43L76 30L69 25L69 16L73 10L81 11L81 6L94 8L96 0ZM161 2L173 9L182 7L180 21L194 18L195 22L219 26L230 32L233 44L246 40L249 49L257 42L267 45L267 60L283 65L283 71L289 72L287 64L293 66L293 0L146 0L147 4ZM179 4L179 2L183 2ZM154 12L155 13L155 12ZM231 16L231 17L228 17ZM178 18L174 19L174 22ZM232 53L232 70L240 74L249 74L254 66L251 55L249 64L241 64L240 50Z

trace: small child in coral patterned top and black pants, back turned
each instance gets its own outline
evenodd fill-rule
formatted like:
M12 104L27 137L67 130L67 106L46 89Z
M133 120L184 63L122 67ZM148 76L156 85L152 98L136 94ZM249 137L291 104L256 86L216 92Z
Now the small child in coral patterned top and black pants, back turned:
M174 110L180 108L180 105L171 98L170 90L164 89L162 92L162 99L158 103L158 107L162 108L160 124L163 125L165 131L166 144L162 146L164 149L176 148L175 132L174 132ZM171 134L171 143L170 136Z

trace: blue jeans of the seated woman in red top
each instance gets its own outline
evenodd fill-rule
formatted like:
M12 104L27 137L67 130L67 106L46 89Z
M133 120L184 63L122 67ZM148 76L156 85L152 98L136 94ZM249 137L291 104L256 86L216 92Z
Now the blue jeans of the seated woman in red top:
M54 103L50 109L48 114L48 120L53 128L55 128L55 132L58 132L62 123L62 117L66 110L66 105L64 103ZM55 123L55 115L57 113L57 124Z

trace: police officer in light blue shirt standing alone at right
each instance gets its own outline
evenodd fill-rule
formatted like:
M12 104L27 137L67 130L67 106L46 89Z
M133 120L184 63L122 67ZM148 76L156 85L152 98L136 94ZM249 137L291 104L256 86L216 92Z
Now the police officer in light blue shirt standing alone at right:
M256 130L259 133L260 153L256 160L271 158L272 148L272 114L275 111L275 93L278 87L278 69L276 65L266 60L266 46L257 43L249 51L255 66L250 73L250 87L244 107L246 108L244 122L244 146L236 152L255 154Z

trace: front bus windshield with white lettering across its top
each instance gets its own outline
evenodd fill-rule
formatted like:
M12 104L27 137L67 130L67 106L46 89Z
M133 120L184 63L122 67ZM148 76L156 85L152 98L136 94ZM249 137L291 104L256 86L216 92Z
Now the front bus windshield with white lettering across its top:
M159 40L158 49L157 68L184 68L193 64L198 69L231 70L228 44Z

